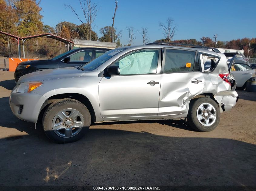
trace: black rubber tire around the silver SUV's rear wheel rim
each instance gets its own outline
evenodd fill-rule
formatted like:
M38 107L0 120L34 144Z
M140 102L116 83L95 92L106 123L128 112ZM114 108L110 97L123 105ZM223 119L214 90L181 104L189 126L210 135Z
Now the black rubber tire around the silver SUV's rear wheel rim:
M199 106L203 103L211 104L211 106L213 106L215 109L215 111L211 110L211 112L214 113L214 116L216 116L216 119L215 121L213 119L209 119L208 120L208 122L210 121L209 126L206 126L204 119L202 119L200 123L199 119L197 118L198 113L201 112L201 110L199 109ZM207 113L207 115L209 114ZM205 119L207 120L207 118ZM214 100L208 97L200 97L200 98L192 99L189 104L187 122L191 128L199 132L209 132L214 130L220 122L220 110L219 110L218 104ZM202 125L202 123L204 123L205 125Z

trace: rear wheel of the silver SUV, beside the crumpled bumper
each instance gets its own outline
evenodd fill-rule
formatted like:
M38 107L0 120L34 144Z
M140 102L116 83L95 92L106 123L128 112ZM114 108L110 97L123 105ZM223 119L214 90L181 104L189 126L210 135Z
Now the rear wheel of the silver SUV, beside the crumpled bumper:
M191 100L187 121L189 126L196 131L212 131L220 122L218 104L208 97Z

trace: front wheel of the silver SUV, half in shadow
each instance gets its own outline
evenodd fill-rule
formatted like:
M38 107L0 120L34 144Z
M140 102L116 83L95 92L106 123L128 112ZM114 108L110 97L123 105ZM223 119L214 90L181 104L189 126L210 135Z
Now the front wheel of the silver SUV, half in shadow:
M52 103L44 113L43 128L53 142L70 143L82 138L91 124L88 109L74 99Z

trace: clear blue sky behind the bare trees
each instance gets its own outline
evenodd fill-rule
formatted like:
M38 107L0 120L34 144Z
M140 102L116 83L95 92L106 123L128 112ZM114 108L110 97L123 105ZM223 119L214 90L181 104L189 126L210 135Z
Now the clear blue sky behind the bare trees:
M115 0L92 0L101 6L95 19L93 29L99 37L101 27L111 26ZM41 14L44 24L54 27L61 21L81 24L70 9L64 4L71 4L83 18L78 0L42 0ZM115 18L115 27L122 30L121 43L128 44L127 26L148 28L151 42L164 38L159 21L165 22L168 17L177 25L173 40L200 40L218 34L217 40L229 41L238 38L256 37L256 0L119 0ZM83 18L84 19L84 18ZM84 19L85 20L85 19ZM142 37L137 32L134 45L142 44Z

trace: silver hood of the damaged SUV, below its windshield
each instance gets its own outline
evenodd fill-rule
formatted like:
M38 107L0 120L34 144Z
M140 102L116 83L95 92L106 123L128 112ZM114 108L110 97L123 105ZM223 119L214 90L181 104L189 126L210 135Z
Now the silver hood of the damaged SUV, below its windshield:
M57 68L51 70L43 70L38 72L32 72L22 76L17 84L21 84L26 81L45 81L60 78L76 78L83 75L86 71L69 68Z

